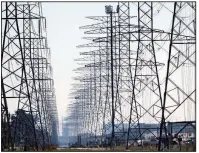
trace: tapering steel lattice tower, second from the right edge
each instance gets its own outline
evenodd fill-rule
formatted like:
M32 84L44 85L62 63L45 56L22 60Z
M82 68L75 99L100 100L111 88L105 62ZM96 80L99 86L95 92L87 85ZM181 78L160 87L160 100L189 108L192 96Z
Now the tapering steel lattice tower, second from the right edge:
M138 2L138 28L137 28L137 53L133 76L132 101L130 109L128 141L142 139L144 134L140 126L140 119L148 114L153 122L157 122L161 116L161 90L158 71L164 66L158 63L154 48L153 31L153 5L152 2ZM158 68L160 67L160 68ZM142 104L142 98L150 94L148 104ZM138 98L138 95L140 97ZM134 132L132 132L133 130ZM135 131L137 131L135 133ZM146 129L144 130L146 131Z

